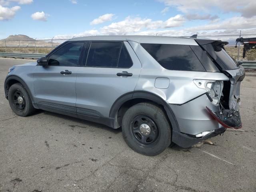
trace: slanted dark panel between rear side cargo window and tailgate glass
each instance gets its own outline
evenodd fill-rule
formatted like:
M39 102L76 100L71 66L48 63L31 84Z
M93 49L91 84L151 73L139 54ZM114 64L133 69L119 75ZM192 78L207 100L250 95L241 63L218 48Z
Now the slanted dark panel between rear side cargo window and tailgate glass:
M206 71L219 72L214 62L200 46L190 45L190 48L192 48L192 50L194 51L194 53L196 54L197 58L200 60Z

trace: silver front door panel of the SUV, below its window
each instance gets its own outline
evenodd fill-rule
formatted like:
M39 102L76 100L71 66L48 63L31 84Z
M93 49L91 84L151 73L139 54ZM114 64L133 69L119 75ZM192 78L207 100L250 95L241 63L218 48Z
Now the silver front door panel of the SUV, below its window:
M60 74L64 70L72 74ZM35 101L76 106L77 71L77 67L70 66L36 66L33 73Z

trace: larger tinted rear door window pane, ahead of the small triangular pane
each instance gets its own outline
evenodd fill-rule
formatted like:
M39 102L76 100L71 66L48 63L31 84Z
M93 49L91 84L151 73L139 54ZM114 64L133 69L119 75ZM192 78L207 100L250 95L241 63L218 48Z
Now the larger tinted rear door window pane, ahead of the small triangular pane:
M92 42L86 66L116 67L121 45L119 42Z

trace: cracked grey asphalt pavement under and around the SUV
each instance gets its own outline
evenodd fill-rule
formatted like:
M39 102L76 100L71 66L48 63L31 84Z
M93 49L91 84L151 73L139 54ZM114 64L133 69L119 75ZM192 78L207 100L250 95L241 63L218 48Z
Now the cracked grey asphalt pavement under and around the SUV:
M4 79L26 62L0 58L0 192L256 191L256 73L242 82L242 129L212 138L213 146L149 157L131 150L120 129L44 111L16 116Z

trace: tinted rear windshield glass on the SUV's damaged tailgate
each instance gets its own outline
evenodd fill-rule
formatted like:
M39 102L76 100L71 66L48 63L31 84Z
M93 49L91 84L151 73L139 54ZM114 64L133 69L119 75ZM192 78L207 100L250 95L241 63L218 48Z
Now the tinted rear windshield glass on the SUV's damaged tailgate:
M235 60L224 50L223 47L212 44L202 45L210 56L218 63L222 70L237 69L238 65Z

